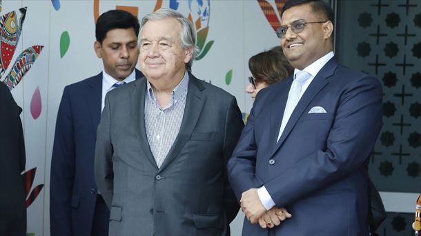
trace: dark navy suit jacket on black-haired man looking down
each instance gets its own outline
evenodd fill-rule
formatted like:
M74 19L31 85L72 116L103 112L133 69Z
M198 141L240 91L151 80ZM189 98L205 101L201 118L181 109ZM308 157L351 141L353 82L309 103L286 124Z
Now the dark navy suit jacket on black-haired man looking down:
M136 70L136 79L141 77ZM64 88L51 159L51 235L91 233L97 200L94 157L101 97L102 72Z

